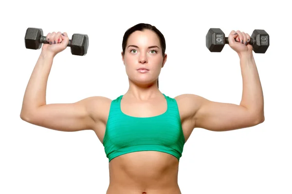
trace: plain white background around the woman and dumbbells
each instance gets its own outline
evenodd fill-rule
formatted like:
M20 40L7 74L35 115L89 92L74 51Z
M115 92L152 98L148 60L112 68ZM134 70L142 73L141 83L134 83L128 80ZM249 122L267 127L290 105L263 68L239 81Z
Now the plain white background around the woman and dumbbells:
M166 39L168 60L159 77L169 97L190 93L239 104L239 58L228 45L220 53L205 46L209 28L250 35L270 34L270 47L256 54L264 92L265 122L225 132L194 129L180 160L183 194L291 194L291 18L277 1L6 1L0 30L0 193L105 194L108 158L91 130L62 132L19 117L40 50L25 49L28 27L86 33L86 56L59 53L49 76L47 103L90 96L111 99L128 90L122 38L138 23L156 26ZM201 3L201 4L199 4Z

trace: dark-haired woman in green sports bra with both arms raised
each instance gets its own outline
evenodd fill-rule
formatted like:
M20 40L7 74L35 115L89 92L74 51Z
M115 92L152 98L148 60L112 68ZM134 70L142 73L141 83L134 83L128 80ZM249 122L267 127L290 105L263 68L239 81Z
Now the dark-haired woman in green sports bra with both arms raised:
M88 97L75 103L46 104L46 85L55 55L69 42L67 33L47 34L50 44L41 54L28 82L21 119L61 131L92 129L109 158L107 194L181 194L179 160L194 128L226 131L264 121L261 84L250 36L231 31L229 45L240 59L243 92L240 105L183 94L168 97L158 88L164 66L163 34L149 24L137 24L124 35L122 61L129 88L114 100Z

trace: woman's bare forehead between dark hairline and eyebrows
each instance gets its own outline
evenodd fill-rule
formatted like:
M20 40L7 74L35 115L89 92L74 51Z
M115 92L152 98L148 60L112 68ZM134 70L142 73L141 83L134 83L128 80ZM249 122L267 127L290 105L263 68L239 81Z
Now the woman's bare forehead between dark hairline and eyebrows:
M160 41L158 35L151 30L135 31L129 36L127 45L137 45L138 47L139 45L141 47L157 45L160 47Z

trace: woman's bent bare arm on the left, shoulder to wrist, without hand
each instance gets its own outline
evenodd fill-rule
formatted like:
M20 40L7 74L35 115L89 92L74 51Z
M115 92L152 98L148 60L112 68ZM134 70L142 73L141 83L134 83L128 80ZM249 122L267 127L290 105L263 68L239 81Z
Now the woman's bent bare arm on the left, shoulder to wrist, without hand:
M75 103L46 104L46 87L54 56L41 52L23 97L20 118L61 131L92 129L101 120L110 99L89 97Z

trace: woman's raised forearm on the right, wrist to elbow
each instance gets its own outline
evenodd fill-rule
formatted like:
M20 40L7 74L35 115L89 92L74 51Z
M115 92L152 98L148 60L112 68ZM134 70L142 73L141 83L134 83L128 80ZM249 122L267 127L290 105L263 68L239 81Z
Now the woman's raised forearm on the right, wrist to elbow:
M253 54L239 55L239 59L243 83L240 105L262 119L264 117L264 98Z

